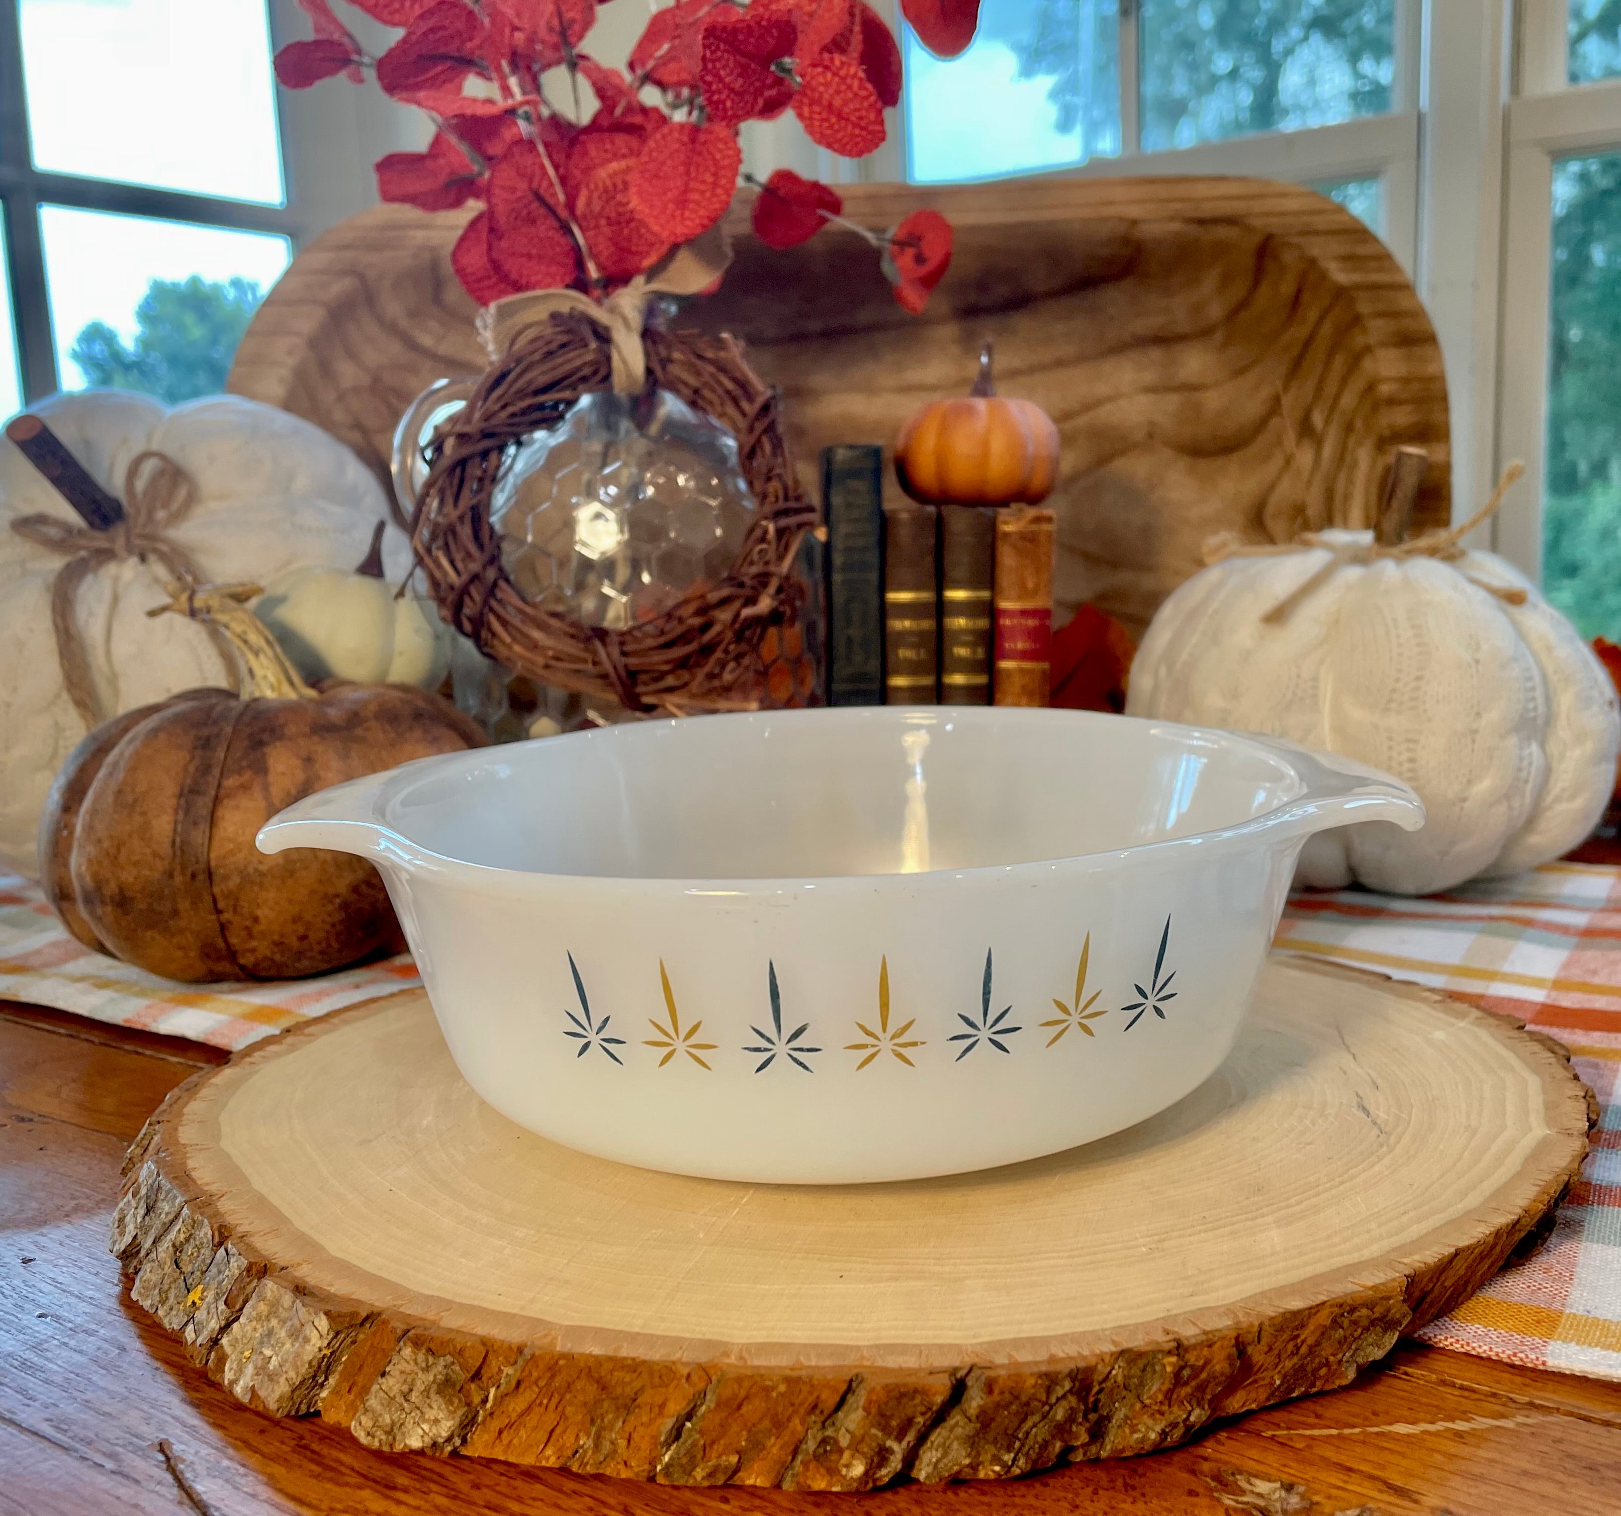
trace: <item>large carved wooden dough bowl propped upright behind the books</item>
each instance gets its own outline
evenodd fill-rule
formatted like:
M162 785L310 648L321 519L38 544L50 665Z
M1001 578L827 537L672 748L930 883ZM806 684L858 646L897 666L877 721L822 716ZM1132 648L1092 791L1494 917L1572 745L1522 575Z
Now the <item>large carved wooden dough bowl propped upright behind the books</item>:
M830 230L772 251L747 233L746 201L720 293L676 318L747 342L783 391L807 488L820 448L890 446L921 402L966 392L994 337L999 389L1039 402L1062 436L1060 623L1094 600L1141 632L1216 532L1373 525L1402 444L1430 457L1414 529L1448 520L1435 332L1383 243L1332 201L1243 178L843 193L875 229L921 206L952 219L952 268L921 318L864 242ZM483 366L449 271L464 219L379 206L319 237L259 306L229 388L386 472L412 397ZM900 498L893 477L888 490Z

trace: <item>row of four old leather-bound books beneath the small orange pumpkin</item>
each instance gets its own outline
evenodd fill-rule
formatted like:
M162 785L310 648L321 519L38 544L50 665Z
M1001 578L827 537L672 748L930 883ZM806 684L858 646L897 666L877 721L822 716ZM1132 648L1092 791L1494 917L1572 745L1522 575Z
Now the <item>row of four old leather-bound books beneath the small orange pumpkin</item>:
M1046 705L1054 514L883 507L883 449L822 452L828 705Z

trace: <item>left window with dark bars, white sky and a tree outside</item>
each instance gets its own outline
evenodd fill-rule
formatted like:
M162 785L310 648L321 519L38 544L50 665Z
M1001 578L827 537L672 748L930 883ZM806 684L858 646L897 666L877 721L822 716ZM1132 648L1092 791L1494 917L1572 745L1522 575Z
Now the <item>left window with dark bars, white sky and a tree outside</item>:
M0 0L0 412L222 389L298 230L266 0Z

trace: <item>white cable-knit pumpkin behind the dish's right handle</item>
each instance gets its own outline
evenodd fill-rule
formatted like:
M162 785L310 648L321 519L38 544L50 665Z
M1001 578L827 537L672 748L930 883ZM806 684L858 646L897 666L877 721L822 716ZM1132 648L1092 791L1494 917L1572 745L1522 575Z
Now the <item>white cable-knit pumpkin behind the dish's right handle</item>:
M1131 665L1127 712L1289 738L1418 791L1420 832L1375 822L1319 833L1300 884L1422 895L1576 846L1615 786L1621 717L1571 623L1491 553L1342 563L1264 621L1336 546L1371 533L1321 540L1222 559L1175 590Z

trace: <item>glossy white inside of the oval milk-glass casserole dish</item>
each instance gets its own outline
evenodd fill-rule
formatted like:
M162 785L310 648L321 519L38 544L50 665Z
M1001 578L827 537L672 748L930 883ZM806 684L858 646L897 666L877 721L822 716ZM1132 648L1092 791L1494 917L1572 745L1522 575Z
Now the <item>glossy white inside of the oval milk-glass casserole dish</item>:
M819 879L1073 858L1235 825L1303 785L1264 747L1062 710L648 722L436 759L384 819L443 856L624 879Z

